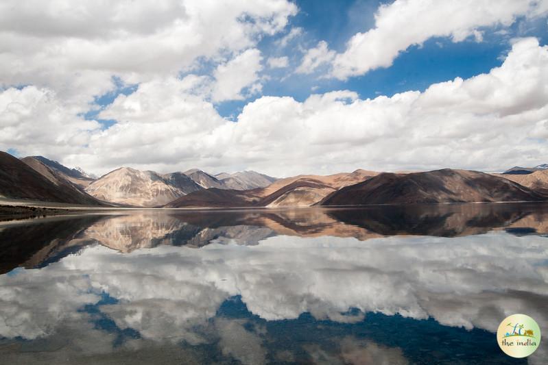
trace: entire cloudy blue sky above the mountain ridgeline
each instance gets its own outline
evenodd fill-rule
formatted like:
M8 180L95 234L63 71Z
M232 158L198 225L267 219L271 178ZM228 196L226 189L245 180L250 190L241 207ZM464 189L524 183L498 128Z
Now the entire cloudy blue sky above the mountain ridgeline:
M5 0L0 150L101 175L548 162L548 0Z

